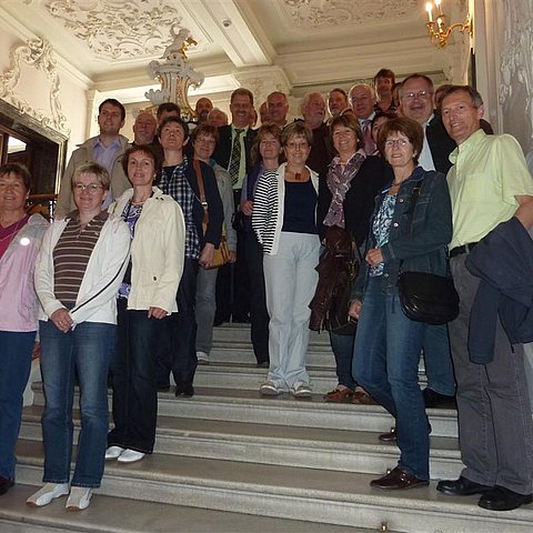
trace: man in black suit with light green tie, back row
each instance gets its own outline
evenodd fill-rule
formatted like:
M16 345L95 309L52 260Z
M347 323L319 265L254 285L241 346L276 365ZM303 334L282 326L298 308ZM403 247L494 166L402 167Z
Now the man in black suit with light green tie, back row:
M250 115L253 111L253 94L244 88L235 89L230 98L231 124L219 128L219 141L213 152L213 159L230 172L235 209L241 203L242 182L252 163L250 151L255 140L257 131L252 130ZM240 141L240 148L235 147ZM232 162L232 152L238 150L238 162ZM250 280L241 245L237 242L237 261L219 269L217 278L217 314L214 324L229 322L249 322L250 313Z

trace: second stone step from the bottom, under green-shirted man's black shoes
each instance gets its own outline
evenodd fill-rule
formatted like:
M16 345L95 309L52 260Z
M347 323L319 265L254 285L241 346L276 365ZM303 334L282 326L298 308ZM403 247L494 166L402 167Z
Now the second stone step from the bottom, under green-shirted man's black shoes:
M40 443L19 441L19 483L39 485ZM479 496L451 497L428 487L386 492L374 475L153 454L138 463L105 466L99 494L320 524L410 533L531 533L532 506L494 513ZM328 531L324 526L323 531Z

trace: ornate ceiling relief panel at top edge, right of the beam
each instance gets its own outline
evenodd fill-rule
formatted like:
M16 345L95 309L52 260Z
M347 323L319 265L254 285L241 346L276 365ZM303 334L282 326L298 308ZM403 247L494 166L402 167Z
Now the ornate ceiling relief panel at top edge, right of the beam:
M283 0L283 3L294 24L313 29L398 19L418 8L416 0Z

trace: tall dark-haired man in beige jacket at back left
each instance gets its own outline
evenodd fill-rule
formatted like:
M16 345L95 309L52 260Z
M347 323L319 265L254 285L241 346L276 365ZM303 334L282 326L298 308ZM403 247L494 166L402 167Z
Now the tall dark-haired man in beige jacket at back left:
M99 105L98 125L100 127L100 133L88 139L78 150L72 152L67 170L61 178L54 212L56 219L64 218L76 209L71 183L74 170L80 164L93 161L109 172L111 185L102 209L110 205L113 199L119 198L131 187L121 164L122 154L128 148L128 139L119 134L120 129L124 125L124 120L125 109L114 98L108 98Z

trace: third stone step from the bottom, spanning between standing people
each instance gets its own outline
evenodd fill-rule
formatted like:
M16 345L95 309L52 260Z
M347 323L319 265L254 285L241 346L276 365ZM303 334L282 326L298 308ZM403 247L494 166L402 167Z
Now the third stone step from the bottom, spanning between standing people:
M43 408L24 410L20 438L41 442ZM74 442L79 412L74 411ZM380 474L396 465L399 450L381 443L376 432L324 430L261 423L159 416L154 453L225 461ZM431 438L433 479L457 477L462 470L457 440Z

